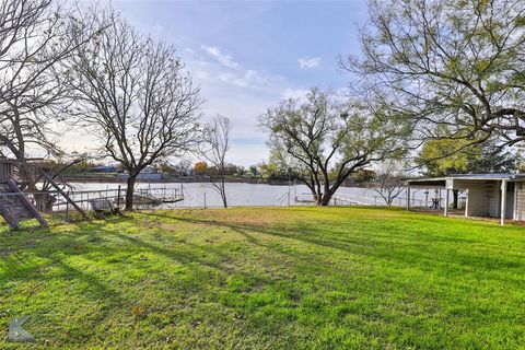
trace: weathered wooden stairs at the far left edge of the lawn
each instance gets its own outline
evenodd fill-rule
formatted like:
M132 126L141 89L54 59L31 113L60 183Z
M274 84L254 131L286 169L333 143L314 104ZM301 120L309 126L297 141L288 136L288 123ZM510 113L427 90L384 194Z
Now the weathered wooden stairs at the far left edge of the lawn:
M21 221L30 219L47 226L46 220L12 178L0 182L0 215L11 229L19 229Z

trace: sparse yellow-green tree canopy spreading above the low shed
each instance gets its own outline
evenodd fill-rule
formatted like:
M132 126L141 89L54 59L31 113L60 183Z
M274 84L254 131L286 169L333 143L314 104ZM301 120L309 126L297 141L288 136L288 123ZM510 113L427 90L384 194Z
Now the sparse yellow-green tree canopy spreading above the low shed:
M341 61L412 120L415 140L525 140L525 2L372 0L362 55ZM458 143L457 150L469 144Z

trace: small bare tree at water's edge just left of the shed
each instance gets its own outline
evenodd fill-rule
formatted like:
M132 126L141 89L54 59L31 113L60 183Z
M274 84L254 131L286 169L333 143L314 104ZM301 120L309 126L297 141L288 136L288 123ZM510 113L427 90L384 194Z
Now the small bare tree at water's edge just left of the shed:
M383 198L385 205L392 206L394 200L406 190L404 178L402 167L390 160L382 164L371 187Z

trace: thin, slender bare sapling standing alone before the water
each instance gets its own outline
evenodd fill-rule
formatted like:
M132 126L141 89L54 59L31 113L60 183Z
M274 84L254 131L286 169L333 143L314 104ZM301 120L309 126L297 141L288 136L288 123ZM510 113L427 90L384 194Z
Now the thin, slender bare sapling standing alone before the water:
M208 126L206 142L201 147L200 154L210 162L217 176L211 177L211 186L219 192L222 205L228 208L226 200L226 152L230 149L230 131L232 125L230 119L223 116L215 116ZM203 148L203 149L202 149Z

